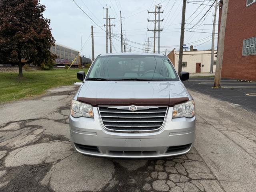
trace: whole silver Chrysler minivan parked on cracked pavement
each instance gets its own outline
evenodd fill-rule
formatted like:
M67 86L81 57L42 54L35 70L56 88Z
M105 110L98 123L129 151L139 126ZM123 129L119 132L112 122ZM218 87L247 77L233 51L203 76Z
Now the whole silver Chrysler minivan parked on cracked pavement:
M74 149L112 158L159 158L187 153L195 140L195 104L163 54L101 54L70 107Z

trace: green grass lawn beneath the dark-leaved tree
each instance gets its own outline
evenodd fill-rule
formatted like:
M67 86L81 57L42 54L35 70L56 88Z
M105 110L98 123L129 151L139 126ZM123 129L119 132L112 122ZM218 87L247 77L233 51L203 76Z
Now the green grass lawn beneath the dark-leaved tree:
M25 77L17 79L17 72L0 73L0 103L42 94L45 90L79 82L76 72L82 69L54 69L50 71L23 72ZM85 73L88 69L83 69Z

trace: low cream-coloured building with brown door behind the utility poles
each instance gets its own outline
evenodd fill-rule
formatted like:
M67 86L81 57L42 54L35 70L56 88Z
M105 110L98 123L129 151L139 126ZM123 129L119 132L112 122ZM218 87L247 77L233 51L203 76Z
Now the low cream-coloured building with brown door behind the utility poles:
M214 50L216 56L217 50ZM168 55L176 71L178 71L179 52L173 49ZM216 57L214 57L213 72L216 68ZM190 46L190 51L184 51L182 57L182 71L189 73L210 73L211 50L198 51Z

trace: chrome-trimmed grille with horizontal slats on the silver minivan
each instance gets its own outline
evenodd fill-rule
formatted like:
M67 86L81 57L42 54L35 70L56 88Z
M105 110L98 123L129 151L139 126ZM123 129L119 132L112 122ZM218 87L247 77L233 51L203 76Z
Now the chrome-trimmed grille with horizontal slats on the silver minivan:
M167 106L98 106L101 122L106 130L116 132L153 132L164 123Z

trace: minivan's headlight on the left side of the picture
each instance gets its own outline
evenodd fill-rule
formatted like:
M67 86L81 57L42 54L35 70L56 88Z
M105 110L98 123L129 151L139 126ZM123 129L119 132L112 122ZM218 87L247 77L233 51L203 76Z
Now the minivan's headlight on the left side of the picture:
M73 117L94 117L91 105L76 100L71 102L70 114Z

